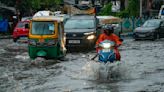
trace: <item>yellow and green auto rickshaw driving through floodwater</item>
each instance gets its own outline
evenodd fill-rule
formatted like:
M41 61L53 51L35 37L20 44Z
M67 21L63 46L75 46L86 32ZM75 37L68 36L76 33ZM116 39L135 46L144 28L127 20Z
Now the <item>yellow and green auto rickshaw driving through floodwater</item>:
M30 22L28 53L31 59L60 59L66 55L64 19L60 16L33 17Z

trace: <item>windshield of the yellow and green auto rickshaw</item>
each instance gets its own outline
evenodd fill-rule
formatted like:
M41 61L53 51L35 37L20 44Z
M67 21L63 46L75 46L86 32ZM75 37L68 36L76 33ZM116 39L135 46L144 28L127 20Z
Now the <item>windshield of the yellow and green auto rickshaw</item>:
M32 22L32 34L34 35L53 35L54 30L54 22Z

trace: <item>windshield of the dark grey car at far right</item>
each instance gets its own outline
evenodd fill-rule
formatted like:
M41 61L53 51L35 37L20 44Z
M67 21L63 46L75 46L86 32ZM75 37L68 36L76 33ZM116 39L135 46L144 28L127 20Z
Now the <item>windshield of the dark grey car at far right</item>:
M158 20L148 20L143 24L143 27L158 27L160 25L160 21Z

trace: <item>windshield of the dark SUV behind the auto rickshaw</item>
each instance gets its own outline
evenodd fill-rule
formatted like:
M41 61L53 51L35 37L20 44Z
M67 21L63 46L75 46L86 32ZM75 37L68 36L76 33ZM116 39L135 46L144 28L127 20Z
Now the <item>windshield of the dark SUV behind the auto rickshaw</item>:
M95 21L92 19L68 20L65 29L92 29L95 28Z

